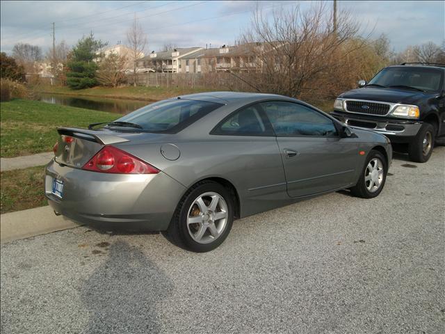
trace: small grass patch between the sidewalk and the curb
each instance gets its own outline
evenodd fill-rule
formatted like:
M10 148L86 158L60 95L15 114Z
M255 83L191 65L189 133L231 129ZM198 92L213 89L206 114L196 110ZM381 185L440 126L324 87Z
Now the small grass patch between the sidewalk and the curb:
M1 214L47 205L44 166L1 172Z

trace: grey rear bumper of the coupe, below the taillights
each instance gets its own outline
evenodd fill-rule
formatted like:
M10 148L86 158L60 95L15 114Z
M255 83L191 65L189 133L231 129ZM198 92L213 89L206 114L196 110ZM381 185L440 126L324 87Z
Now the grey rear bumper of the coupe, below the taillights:
M61 199L51 193L53 178L63 181ZM166 230L185 190L162 172L96 173L54 160L45 170L45 196L54 211L105 230Z

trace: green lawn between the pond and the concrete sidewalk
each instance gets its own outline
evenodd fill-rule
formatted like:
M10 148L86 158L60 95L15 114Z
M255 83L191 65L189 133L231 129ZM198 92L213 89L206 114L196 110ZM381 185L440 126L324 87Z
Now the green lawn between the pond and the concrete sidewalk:
M56 127L87 127L94 122L119 118L115 113L61 106L38 101L13 100L0 103L0 156L49 152L57 140Z

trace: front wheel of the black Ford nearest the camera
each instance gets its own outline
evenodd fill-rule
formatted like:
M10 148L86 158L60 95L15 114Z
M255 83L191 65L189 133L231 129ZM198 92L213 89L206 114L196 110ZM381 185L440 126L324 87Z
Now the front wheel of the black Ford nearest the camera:
M426 162L434 148L436 129L430 123L423 123L408 148L410 159L415 162Z

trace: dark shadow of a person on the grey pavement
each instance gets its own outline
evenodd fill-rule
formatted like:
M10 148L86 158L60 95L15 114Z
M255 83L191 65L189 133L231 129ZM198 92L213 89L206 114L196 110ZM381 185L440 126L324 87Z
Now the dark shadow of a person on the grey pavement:
M106 261L81 287L90 314L83 333L159 333L156 304L172 288L170 278L136 246L111 244Z

